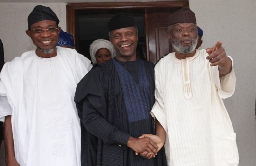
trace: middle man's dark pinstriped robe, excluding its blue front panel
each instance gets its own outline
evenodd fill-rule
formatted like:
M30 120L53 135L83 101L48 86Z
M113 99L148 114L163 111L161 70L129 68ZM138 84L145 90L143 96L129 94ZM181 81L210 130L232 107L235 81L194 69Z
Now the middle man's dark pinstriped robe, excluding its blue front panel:
M113 59L116 60L116 59ZM117 61L117 60L116 60ZM137 60L120 63L138 83ZM154 65L143 61L150 84L150 109L154 104ZM131 136L155 134L152 117L129 122L123 90L113 61L95 66L78 83L75 102L84 124L81 138L82 166L164 166L164 148L153 159L135 156L127 147ZM150 110L148 110L150 111Z

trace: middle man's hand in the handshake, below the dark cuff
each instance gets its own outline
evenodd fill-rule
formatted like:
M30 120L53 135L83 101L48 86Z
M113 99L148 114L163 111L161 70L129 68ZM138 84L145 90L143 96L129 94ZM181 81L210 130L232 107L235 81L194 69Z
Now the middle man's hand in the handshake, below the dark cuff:
M148 137L139 139L139 138L134 138L130 136L127 146L138 153L147 151L148 153L150 153L150 156L153 156L153 157L155 157L155 155L157 154L157 149L158 149L158 146L156 145L156 143Z

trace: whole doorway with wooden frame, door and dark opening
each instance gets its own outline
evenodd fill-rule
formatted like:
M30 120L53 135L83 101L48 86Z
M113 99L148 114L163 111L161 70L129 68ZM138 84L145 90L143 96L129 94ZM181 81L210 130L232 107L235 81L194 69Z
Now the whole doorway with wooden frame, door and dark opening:
M68 3L67 32L75 37L75 48L90 59L89 46L96 39L108 39L107 22L119 13L134 16L139 31L137 53L156 63L161 56L173 52L167 36L170 14L186 1Z

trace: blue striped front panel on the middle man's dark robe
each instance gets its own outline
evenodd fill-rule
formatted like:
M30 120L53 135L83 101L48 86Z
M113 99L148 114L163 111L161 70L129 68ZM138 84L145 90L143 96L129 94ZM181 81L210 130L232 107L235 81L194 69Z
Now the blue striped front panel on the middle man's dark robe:
M149 82L142 60L138 61L139 84L125 70L122 65L113 60L117 69L122 89L124 90L124 103L127 110L129 122L139 121L150 118L150 95Z

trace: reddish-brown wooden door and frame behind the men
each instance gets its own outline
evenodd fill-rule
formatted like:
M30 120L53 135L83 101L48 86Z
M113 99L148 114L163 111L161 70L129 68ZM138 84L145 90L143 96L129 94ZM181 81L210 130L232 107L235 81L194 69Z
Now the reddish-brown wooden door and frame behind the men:
M157 2L108 2L108 3L68 3L67 32L74 37L77 31L76 13L81 10L140 9L144 11L147 60L156 63L161 56L173 52L167 35L169 16L172 12L189 7L188 0Z

